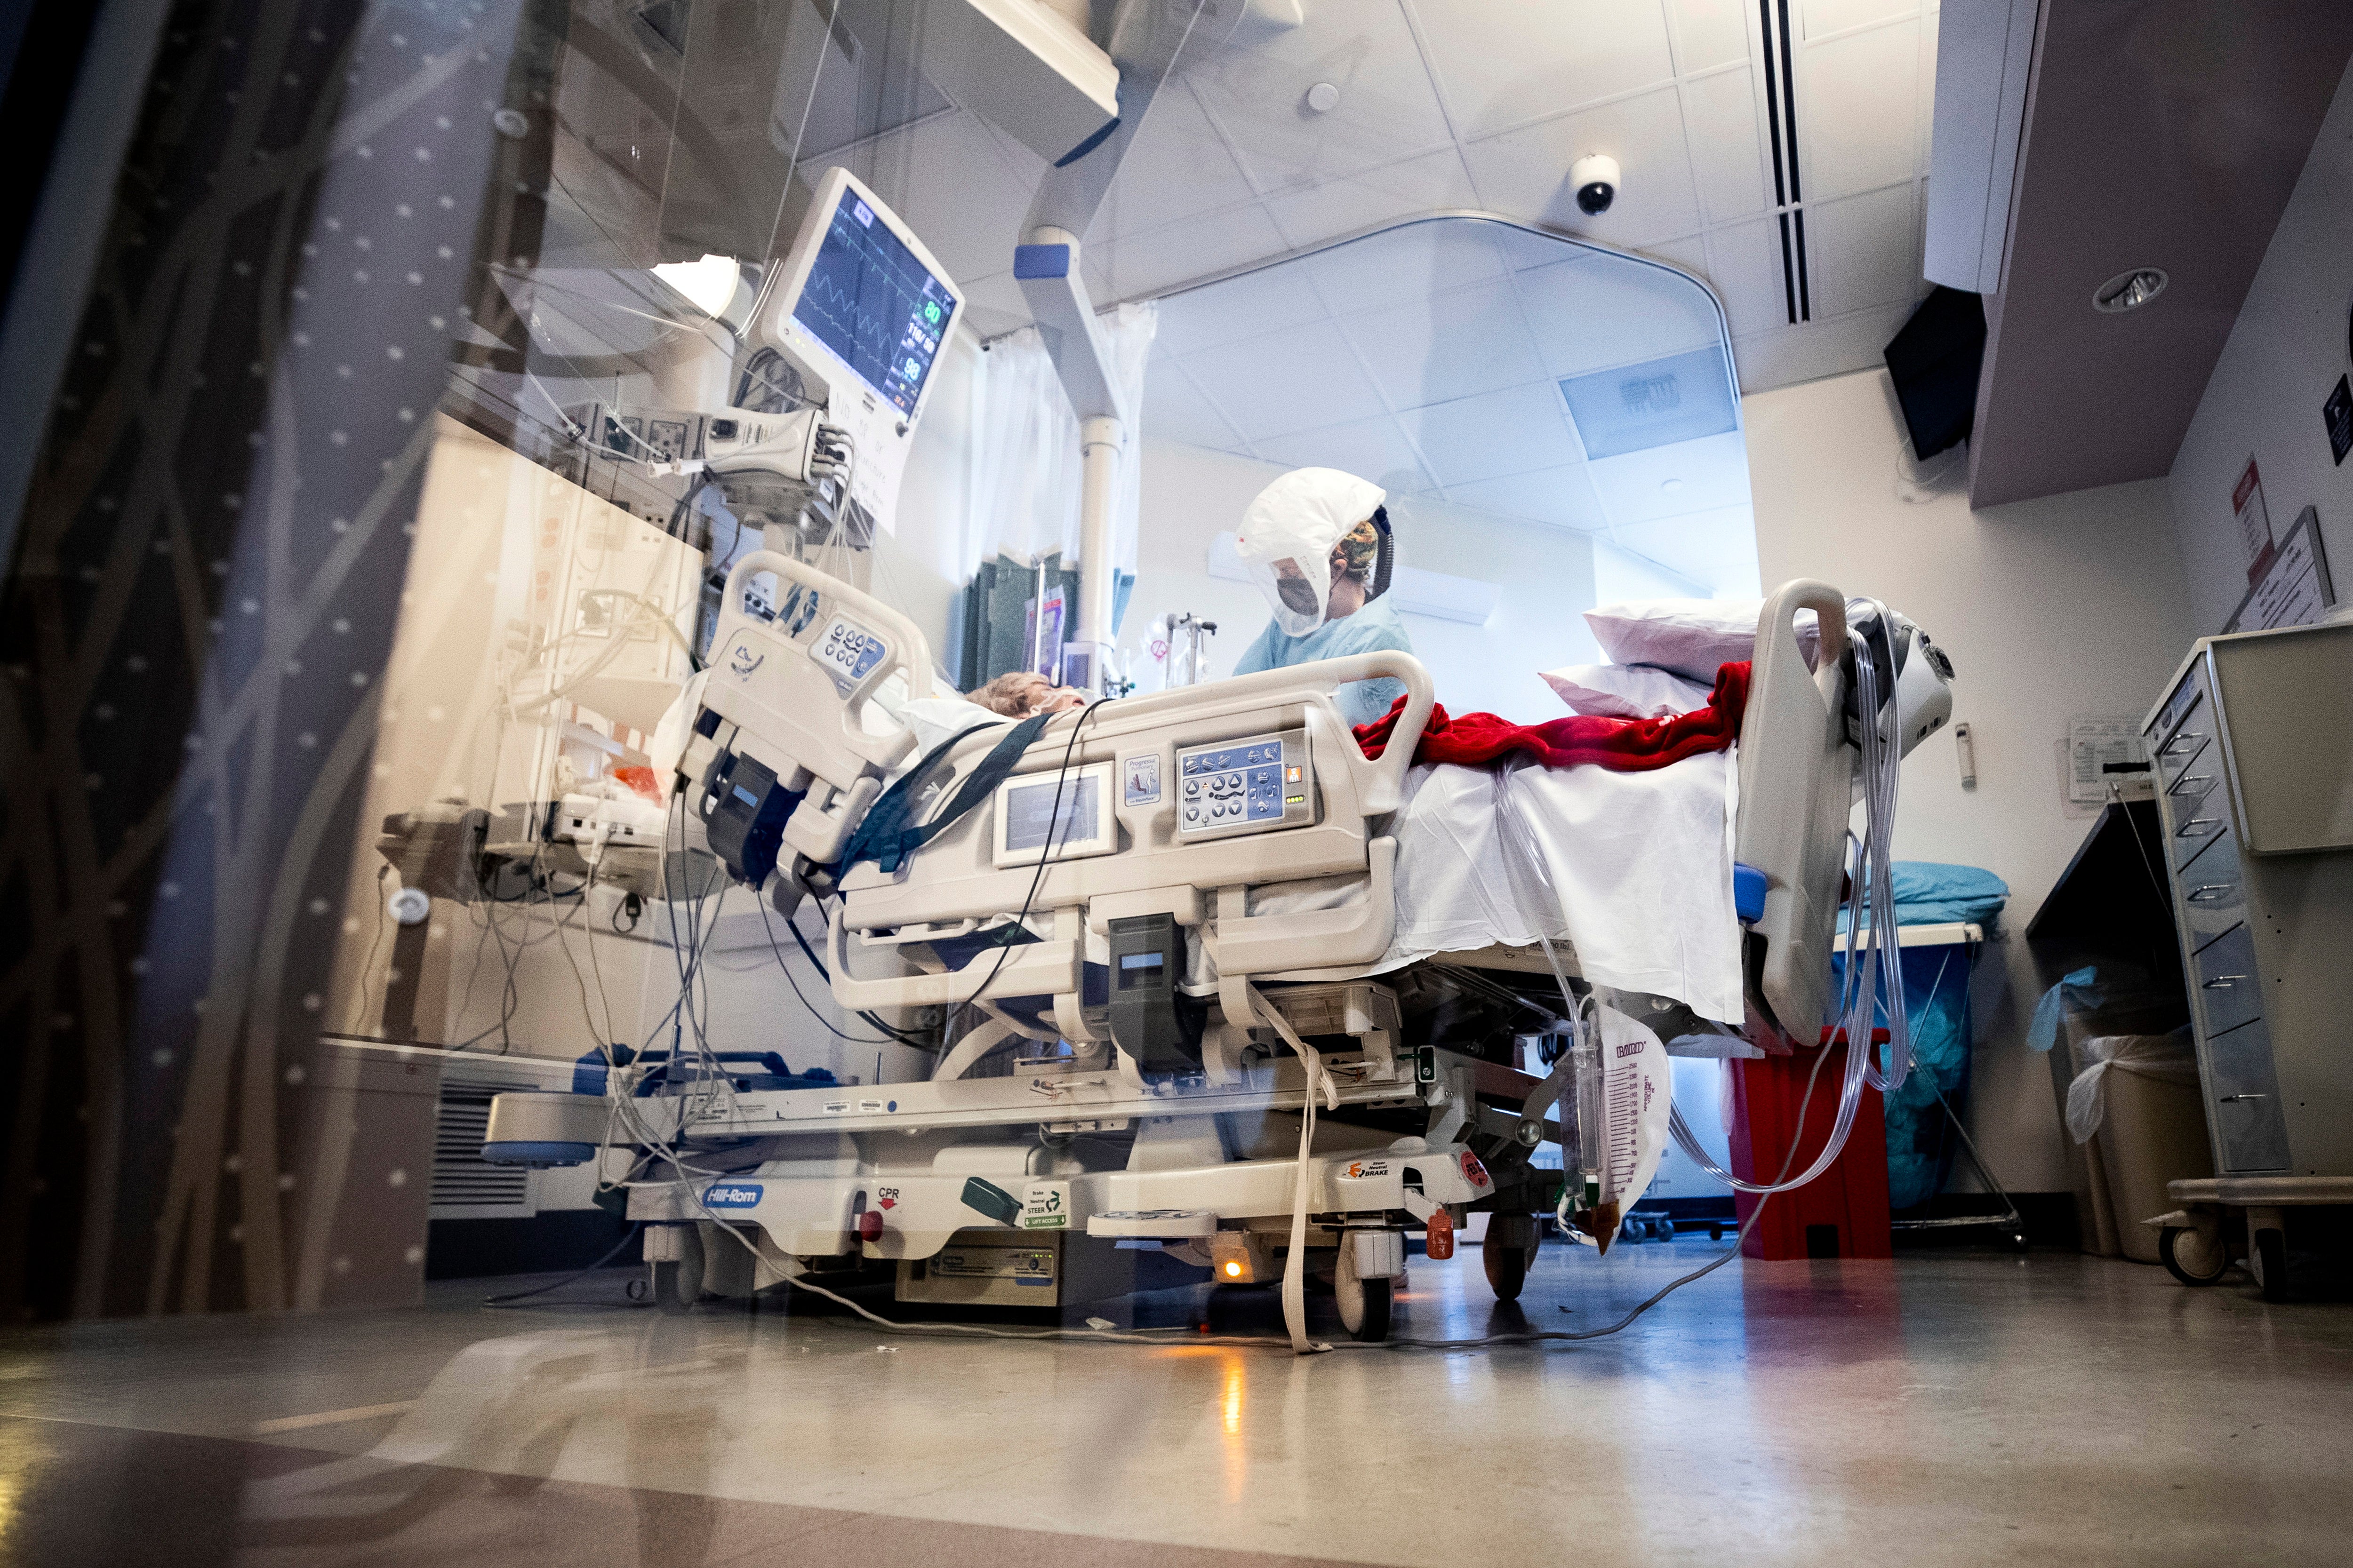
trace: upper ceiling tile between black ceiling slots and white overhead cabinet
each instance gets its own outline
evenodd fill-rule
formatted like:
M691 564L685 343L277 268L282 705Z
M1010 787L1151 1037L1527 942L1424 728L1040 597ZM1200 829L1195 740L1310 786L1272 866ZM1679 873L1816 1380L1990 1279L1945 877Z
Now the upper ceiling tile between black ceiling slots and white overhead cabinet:
M1805 200L1873 190L1920 172L1920 24L1901 21L1798 59L1798 172Z

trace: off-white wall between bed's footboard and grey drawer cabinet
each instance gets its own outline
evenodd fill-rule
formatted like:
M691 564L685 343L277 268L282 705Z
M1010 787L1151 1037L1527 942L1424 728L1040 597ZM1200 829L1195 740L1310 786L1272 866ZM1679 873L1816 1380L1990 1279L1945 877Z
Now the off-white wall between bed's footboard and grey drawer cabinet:
M2318 407L2318 404L2315 404ZM2068 1187L2049 1067L2024 1044L2024 929L2089 827L2064 813L2054 743L2078 715L2139 715L2188 646L2188 585L2162 480L1972 512L1899 498L1901 421L1885 371L1746 402L1765 583L1817 576L1901 609L1951 651L1953 717L1977 733L1960 788L1948 733L1904 764L1897 856L1984 865L2009 884L1977 997L1969 1131L2021 1192ZM2007 987L2000 978L2007 973Z

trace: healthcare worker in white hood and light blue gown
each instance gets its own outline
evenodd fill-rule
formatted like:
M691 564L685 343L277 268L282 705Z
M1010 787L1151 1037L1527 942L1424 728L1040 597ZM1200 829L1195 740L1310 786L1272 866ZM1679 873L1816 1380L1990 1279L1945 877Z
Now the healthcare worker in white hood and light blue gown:
M1235 552L1275 607L1235 675L1346 658L1412 654L1388 590L1388 491L1337 468L1294 468L1242 512ZM1400 679L1348 682L1334 698L1351 724L1372 724L1405 691Z

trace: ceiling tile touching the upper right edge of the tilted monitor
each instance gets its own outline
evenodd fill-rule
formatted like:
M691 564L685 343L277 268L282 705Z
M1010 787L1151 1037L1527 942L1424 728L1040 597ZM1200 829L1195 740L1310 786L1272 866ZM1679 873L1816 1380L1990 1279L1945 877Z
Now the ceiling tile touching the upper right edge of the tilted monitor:
M953 277L988 277L1012 266L1031 190L972 115L939 115L875 136L842 165L922 235Z

